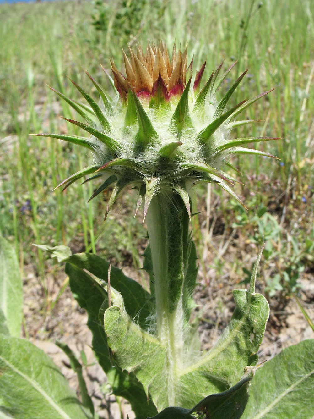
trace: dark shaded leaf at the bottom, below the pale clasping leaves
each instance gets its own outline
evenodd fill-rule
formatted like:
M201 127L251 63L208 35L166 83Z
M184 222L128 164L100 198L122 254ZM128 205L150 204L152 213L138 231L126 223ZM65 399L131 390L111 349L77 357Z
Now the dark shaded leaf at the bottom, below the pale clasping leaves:
M167 407L153 418L147 419L195 419L192 414L205 414L211 419L239 419L249 399L248 388L255 368L251 367L247 374L228 390L211 394L203 398L192 409L182 407Z

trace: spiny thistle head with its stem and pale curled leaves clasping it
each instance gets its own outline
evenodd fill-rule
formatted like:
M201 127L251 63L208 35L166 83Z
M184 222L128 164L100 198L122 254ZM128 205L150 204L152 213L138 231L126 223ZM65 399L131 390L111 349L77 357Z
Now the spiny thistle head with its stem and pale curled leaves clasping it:
M104 312L106 339L114 361L122 370L135 372L157 411L168 406L190 408L208 394L232 387L242 378L245 367L257 362L256 352L263 338L268 304L264 297L255 294L255 279L250 291L237 291L235 295L237 315L230 330L208 354L200 356L197 350L197 339L190 324L195 308L192 294L197 266L189 230L189 193L198 182L214 182L241 202L231 189L237 180L223 168L237 171L228 161L231 155L271 156L245 146L274 138L234 140L230 132L234 126L251 122L234 121L270 91L228 108L229 99L247 70L220 101L216 92L235 63L220 76L221 64L202 86L206 62L196 72L192 83L193 60L187 65L187 49L181 53L174 46L171 60L162 43L158 47L148 45L145 53L141 48L130 49L129 58L125 52L123 54L125 76L111 61L111 80L118 92L115 98L109 98L88 73L100 94L99 103L72 80L88 105L55 91L85 122L66 120L88 132L89 138L68 134L37 135L66 140L93 152L93 164L65 179L58 187L66 189L85 175L92 175L85 182L102 178L90 199L113 187L105 219L123 191L130 187L138 191L135 212L143 206L149 238L144 261L150 275L150 295L144 304L147 316L142 318L142 308L131 316L125 308L125 297L112 283L110 289L106 288L113 304ZM258 317L255 305L262 313ZM244 316L245 320L235 326L239 316ZM245 327L245 333L233 335L230 340L234 327L239 330ZM227 356L226 350L230 362L236 364L232 368L220 359L222 354ZM244 406L245 403L243 409Z

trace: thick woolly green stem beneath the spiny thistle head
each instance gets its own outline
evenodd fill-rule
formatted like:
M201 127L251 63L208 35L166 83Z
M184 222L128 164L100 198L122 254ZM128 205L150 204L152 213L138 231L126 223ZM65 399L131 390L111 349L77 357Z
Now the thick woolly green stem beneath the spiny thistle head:
M182 198L173 193L152 198L147 212L152 252L157 336L167 349L168 402L175 406L175 383L183 367L185 301L188 260L188 213Z

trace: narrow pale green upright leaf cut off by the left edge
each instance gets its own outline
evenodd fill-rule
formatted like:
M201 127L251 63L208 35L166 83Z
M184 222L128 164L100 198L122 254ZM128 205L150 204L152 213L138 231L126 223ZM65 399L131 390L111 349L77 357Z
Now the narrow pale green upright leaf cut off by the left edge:
M21 335L23 290L13 247L0 236L0 309L11 336Z

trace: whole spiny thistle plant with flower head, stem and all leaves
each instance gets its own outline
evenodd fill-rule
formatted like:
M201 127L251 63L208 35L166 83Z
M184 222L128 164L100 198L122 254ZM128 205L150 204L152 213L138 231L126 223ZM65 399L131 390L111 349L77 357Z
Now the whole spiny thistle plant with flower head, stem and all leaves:
M90 134L37 134L81 145L93 152L91 166L65 179L66 189L91 175L113 191L105 218L127 188L138 191L135 212L143 208L149 245L144 269L150 291L92 253L71 254L66 246L39 246L65 271L75 299L88 313L93 350L113 394L131 403L137 419L311 419L314 413L314 340L283 350L258 369L269 306L255 293L257 256L248 290L234 290L235 310L229 325L208 352L201 353L196 304L196 248L189 222L190 190L200 181L214 182L233 198L230 155L268 155L246 148L266 137L231 139L231 130L250 120L240 112L269 91L227 108L245 72L220 101L216 91L231 66L220 65L202 85L205 64L192 84L187 51L172 59L164 44L124 53L126 76L113 62L115 98L109 98L89 74L100 94L98 103L75 82L87 103L61 96L85 122L67 119ZM54 90L54 89L53 89ZM271 156L273 157L273 156ZM223 171L224 166L227 169ZM31 342L20 339L22 281L15 251L0 238L0 416L15 419L95 419L82 366L59 342L77 372L81 402L52 360ZM255 375L255 376L254 376ZM254 376L254 377L253 377ZM248 401L248 386L250 400Z

